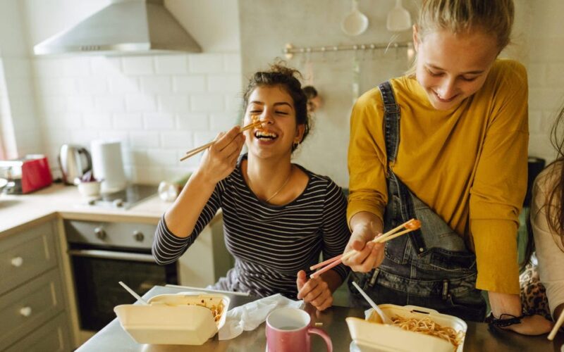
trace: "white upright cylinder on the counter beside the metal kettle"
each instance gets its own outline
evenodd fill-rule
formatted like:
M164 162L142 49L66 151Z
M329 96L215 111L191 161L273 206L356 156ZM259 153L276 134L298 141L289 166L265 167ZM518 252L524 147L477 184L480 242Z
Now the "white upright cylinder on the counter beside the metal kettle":
M102 193L121 191L127 186L120 141L95 140L91 144L92 172L102 180Z

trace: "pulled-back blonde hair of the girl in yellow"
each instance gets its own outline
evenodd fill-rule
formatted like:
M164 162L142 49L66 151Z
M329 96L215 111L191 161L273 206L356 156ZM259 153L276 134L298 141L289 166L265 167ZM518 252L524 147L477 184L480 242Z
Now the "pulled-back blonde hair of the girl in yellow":
M499 51L510 43L515 18L513 0L423 0L419 38L434 30L463 33L479 28L494 35Z

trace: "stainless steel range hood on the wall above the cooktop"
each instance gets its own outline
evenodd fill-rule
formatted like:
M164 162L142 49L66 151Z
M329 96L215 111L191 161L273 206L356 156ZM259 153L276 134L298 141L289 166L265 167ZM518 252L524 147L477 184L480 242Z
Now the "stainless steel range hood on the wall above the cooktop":
M163 0L113 0L71 29L34 46L36 55L200 53Z

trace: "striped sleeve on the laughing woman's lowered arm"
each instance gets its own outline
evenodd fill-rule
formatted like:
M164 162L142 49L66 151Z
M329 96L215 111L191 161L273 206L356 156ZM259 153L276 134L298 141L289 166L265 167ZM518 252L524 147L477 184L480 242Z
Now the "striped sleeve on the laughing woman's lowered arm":
M338 256L350 239L347 225L347 199L335 182L329 180L323 209L323 258ZM333 268L344 280L350 268L343 263Z

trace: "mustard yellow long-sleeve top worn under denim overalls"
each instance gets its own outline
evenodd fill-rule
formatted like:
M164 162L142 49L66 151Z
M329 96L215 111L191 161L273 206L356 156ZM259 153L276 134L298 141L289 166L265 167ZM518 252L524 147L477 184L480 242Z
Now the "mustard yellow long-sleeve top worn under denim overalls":
M470 244L478 289L519 294L516 237L529 139L525 68L497 60L484 86L448 111L431 106L415 77L391 84L401 113L393 172ZM387 160L377 87L353 107L348 168L348 220L360 211L383 219Z

